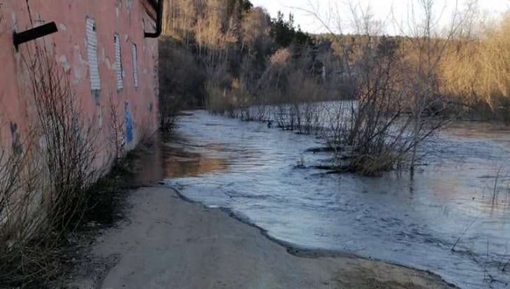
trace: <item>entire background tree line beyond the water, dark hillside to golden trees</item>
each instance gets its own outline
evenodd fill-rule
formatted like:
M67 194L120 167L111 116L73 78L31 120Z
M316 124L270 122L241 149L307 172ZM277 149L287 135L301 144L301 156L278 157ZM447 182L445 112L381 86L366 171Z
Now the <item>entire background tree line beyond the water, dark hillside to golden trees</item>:
M433 1L420 2L432 8ZM293 15L271 19L248 0L168 1L161 111L182 103L233 114L252 105L356 98L372 54L395 52L399 69L392 73L422 82L416 85L428 95L428 113L510 121L510 14L485 23L474 15L472 8L454 15L446 33L414 23L412 33L384 36L379 23L359 17L352 34L310 35Z

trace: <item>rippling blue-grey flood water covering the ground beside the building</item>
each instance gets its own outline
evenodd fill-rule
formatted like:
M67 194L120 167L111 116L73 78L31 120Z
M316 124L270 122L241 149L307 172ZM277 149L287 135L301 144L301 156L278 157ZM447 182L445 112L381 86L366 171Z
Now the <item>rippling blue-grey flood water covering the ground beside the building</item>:
M510 286L508 130L451 126L423 147L413 179L328 175L313 166L331 155L305 152L320 139L205 111L161 138L166 186L275 239L427 269L460 288Z

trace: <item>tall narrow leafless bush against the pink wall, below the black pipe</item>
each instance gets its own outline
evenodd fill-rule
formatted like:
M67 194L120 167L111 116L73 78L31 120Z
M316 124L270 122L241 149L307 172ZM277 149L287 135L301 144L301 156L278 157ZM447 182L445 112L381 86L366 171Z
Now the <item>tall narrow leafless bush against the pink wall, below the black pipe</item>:
M65 232L82 218L87 188L101 175L99 133L93 120L85 122L79 98L44 43L36 43L32 54L26 63L48 181L43 198L51 228Z

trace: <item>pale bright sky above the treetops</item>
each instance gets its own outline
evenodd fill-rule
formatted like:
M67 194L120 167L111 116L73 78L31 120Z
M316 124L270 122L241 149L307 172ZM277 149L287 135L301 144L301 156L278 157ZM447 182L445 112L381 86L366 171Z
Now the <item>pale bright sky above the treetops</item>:
M347 0L250 0L254 6L262 6L270 13L271 17L276 17L277 11L281 10L284 15L293 13L296 27L299 25L303 31L309 33L326 32L325 24L335 33L339 31L337 27L337 19L341 19L340 27L342 32L351 33L352 31L352 13L349 13L349 1ZM370 5L371 13L374 19L384 22L386 25L385 34L400 34L399 31L405 29L405 22L409 19L409 11L418 0L354 0L358 11L366 10ZM479 10L486 15L497 16L503 11L510 8L510 0L478 0L477 6ZM414 4L413 4L414 3ZM451 15L454 8L463 10L465 8L465 0L435 0L435 15L437 19L437 27L444 27L451 21ZM310 10L315 10L321 20L309 15ZM415 15L418 13L415 13ZM419 15L418 15L419 16ZM396 23L396 24L395 24Z

